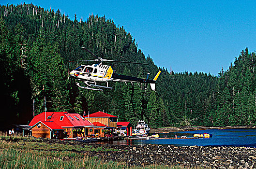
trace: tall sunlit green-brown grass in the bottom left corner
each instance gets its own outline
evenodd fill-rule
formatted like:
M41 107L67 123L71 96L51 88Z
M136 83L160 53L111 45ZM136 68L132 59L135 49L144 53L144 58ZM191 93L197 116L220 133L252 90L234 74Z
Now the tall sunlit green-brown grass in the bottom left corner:
M24 144L24 143L23 143ZM38 146L44 146L45 144ZM67 151L30 149L31 145L0 141L0 169L125 169L125 164ZM56 150L56 147L51 147Z

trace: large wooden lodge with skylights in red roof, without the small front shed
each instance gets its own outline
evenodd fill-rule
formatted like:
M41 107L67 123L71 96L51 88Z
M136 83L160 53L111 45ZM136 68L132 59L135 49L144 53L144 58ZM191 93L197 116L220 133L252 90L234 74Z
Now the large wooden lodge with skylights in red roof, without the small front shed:
M30 130L32 131L32 135L34 132L35 137L40 135L38 135L37 133L39 132L41 133L40 136L44 136L44 138L49 138L49 132L51 131L49 130L49 127L45 128L47 132L40 131L44 130L43 128L34 128L34 125L37 124L39 121L44 122L44 124L47 122L54 122L65 131L64 137L68 138L84 137L89 134L90 128L94 127L94 125L90 121L88 121L78 113L44 112L36 115L29 124L29 126L31 126Z

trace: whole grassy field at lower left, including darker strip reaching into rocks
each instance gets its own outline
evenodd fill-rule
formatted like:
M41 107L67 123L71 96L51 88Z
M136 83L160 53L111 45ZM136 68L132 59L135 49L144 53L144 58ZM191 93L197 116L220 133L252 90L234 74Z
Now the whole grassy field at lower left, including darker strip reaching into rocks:
M76 151L74 151L76 150ZM83 151L84 153L78 153ZM49 144L37 139L0 133L0 169L128 169L124 162L102 162L86 151L117 151L68 144ZM152 165L133 169L170 169ZM173 167L173 169L181 169Z

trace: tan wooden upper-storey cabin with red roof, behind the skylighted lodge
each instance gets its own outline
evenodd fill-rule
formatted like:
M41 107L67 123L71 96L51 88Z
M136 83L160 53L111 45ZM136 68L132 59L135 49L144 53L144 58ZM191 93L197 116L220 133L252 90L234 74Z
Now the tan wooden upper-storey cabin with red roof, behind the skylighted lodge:
M91 123L99 122L108 127L117 127L118 117L108 113L96 112L96 113L88 114L84 116L84 118L90 121Z

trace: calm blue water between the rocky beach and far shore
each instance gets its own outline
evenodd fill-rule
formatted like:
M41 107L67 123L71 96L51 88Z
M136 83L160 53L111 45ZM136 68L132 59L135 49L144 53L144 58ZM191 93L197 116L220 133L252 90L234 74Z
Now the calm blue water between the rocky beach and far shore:
M199 131L183 131L173 133L158 133L174 138L174 135L193 137L195 133L211 133L212 138L204 139L160 139L160 140L124 140L109 142L112 144L172 144L177 146L246 146L256 147L256 129L211 129Z

